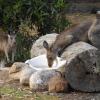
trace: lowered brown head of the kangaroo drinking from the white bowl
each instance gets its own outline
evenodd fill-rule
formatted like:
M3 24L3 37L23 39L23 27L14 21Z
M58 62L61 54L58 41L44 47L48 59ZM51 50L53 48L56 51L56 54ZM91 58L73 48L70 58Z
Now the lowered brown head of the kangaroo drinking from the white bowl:
M49 46L46 41L43 42L43 46L47 51L48 66L52 67L54 60L56 60L57 53L53 50L52 46Z

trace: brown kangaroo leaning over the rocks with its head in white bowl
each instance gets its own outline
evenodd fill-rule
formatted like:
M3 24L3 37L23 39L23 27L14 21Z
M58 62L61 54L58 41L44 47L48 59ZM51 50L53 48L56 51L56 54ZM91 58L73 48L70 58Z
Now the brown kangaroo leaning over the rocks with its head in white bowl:
M53 61L56 60L57 56L61 55L67 46L78 41L88 42L88 30L91 25L92 21L85 21L66 29L56 37L56 40L51 46L44 41L43 46L47 51L48 66L52 67Z

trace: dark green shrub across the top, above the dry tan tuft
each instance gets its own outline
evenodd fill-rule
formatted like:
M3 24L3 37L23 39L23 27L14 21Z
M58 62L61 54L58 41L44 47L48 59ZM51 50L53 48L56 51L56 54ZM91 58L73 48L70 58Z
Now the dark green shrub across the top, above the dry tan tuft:
M65 0L1 0L1 22L7 29L16 29L28 20L40 34L60 32L68 25L64 13L68 5Z

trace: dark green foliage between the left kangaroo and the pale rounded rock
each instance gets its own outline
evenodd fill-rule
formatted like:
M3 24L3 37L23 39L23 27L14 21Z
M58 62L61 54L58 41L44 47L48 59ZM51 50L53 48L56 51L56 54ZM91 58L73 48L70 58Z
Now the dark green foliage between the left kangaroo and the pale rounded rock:
M37 39L37 36L33 37L23 35L21 33L17 34L16 41L17 41L17 53L15 60L16 61L25 61L30 58L30 49L32 43Z

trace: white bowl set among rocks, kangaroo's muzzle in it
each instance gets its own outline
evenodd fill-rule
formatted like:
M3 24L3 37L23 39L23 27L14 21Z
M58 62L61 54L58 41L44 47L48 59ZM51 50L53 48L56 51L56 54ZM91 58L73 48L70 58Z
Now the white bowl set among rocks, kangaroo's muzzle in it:
M59 67L62 67L66 63L66 60L63 60L62 58L57 57L57 62L54 61L53 66L49 68L46 54L43 54L43 55L34 57L32 59L29 59L25 63L29 64L29 66L33 68L34 70L47 70L47 69L58 69Z

